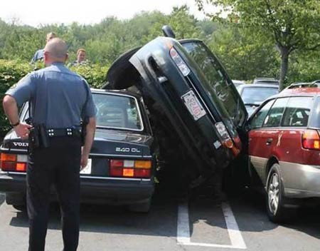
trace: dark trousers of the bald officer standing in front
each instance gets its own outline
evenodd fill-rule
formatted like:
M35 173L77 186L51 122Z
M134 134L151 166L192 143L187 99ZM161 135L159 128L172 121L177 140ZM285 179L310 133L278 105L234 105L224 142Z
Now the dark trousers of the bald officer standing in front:
M29 153L27 208L29 251L44 251L52 185L58 193L64 251L75 251L79 241L81 140L73 137L50 138L48 148Z

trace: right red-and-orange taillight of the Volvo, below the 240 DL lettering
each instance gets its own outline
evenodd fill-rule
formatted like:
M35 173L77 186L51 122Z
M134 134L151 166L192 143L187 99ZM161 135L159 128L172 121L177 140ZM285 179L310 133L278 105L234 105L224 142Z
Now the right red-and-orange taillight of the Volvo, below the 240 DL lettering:
M150 178L151 160L110 160L110 176Z

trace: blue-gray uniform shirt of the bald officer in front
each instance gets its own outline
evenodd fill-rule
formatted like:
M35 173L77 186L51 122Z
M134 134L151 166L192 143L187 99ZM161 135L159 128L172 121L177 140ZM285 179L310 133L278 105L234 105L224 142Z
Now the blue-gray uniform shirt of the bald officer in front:
M46 128L80 126L81 118L95 117L97 111L85 79L63 63L29 73L6 94L19 107L31 101L33 123L44 123Z

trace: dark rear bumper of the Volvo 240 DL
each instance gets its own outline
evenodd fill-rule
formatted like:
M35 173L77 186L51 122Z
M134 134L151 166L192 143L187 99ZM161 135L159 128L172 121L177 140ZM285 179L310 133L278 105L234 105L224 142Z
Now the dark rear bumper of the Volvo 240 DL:
M151 179L80 177L82 203L129 205L146 202L154 193ZM0 192L25 195L26 175L0 172ZM55 193L54 188L52 192Z

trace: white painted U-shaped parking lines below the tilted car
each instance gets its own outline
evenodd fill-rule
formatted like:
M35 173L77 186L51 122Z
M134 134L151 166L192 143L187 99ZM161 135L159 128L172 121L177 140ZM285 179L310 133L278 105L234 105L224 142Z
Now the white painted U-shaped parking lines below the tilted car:
M245 241L242 238L235 216L228 203L222 203L223 215L227 225L228 234L231 245L220 245L211 243L191 242L188 203L178 206L178 227L177 227L177 243L178 245L200 246L200 247L220 247L233 249L246 249Z

